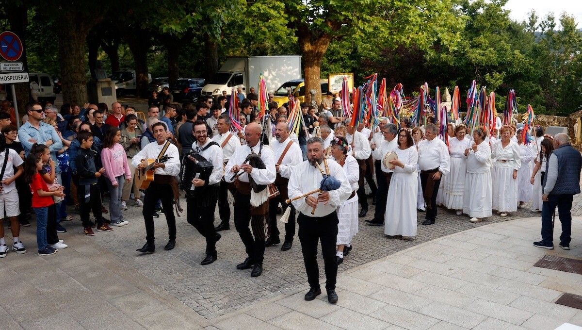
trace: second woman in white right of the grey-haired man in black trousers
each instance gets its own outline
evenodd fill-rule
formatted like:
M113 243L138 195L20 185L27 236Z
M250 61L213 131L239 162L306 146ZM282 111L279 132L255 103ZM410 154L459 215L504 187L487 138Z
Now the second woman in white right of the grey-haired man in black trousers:
M464 150L467 173L464 180L463 213L470 222L481 222L491 217L491 147L487 130L477 127L473 131L473 144Z

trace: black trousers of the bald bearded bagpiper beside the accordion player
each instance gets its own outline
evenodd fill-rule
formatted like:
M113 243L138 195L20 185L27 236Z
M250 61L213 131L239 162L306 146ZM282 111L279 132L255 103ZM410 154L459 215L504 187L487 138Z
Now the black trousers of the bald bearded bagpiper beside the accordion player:
M254 264L262 265L263 256L265 254L265 239L253 237L251 233L251 196L243 195L236 191L235 193L235 207L233 212L235 214L235 228L243 241L244 250L249 255L250 261Z

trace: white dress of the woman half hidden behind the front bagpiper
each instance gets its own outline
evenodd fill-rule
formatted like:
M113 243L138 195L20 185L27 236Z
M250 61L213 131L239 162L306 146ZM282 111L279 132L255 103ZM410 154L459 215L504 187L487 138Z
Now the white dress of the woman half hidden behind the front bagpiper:
M356 158L347 154L344 162L343 172L346 175L347 181L352 187L352 191L358 190L358 179L360 178L360 166ZM336 245L352 243L352 238L359 231L358 222L358 195L343 202L338 207L338 236L336 237Z

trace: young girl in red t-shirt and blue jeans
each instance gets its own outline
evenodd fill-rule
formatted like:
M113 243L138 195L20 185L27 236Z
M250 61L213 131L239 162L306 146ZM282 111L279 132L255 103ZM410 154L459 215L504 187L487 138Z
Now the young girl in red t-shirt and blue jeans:
M54 232L54 237L51 238L56 239L56 243L59 243L59 237L56 236L56 230L54 228L56 208L52 197L64 197L65 194L62 192L62 188L55 190L48 189L47 183L42 179L40 173L38 173L42 169L43 164L41 155L31 152L29 157L26 158L24 180L30 184L30 191L33 196L32 207L37 216L38 256L49 256L50 254L55 254L57 249L48 245L47 229ZM52 220L49 220L51 218Z

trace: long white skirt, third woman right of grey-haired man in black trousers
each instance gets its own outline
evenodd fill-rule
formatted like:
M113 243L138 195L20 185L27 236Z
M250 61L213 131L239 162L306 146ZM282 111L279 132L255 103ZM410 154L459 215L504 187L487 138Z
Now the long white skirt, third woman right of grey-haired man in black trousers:
M513 179L513 168L493 166L493 210L517 211L517 179Z

